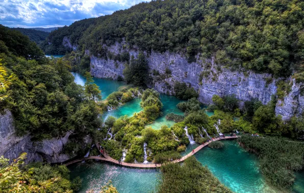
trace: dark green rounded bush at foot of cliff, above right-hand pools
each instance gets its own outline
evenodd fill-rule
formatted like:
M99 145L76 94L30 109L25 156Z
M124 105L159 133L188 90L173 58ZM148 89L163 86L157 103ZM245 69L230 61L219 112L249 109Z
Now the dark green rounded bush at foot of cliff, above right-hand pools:
M186 83L175 82L174 93L178 99L192 99L197 98L198 93L192 87L188 87Z

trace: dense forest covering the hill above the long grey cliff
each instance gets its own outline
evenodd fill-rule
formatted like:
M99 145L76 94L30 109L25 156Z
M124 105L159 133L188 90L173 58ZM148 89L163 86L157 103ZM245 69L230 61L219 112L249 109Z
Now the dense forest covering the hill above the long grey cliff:
M64 37L79 49L106 57L103 44L214 56L219 65L302 80L304 2L165 0L140 3L112 15L74 22L50 33L45 53L64 54ZM52 44L48 44L48 42Z

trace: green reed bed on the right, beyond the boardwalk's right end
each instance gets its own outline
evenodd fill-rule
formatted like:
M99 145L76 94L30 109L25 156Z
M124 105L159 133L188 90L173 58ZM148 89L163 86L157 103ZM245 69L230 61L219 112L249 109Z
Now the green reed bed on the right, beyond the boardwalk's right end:
M304 167L304 144L277 137L242 136L238 142L260 158L260 169L266 180L277 187L291 187L294 171Z

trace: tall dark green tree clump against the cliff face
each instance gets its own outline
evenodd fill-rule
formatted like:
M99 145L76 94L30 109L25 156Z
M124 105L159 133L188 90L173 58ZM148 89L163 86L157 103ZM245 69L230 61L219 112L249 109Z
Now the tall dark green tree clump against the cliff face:
M148 77L148 62L144 53L139 53L138 58L131 57L130 64L126 63L123 76L127 83L145 85Z

